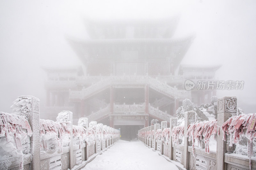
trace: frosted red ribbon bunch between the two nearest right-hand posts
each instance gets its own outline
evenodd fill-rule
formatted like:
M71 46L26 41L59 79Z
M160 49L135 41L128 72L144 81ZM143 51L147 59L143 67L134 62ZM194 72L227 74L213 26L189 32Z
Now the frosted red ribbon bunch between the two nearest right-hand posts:
M205 152L209 153L209 139L210 136L213 135L215 139L215 135L218 132L217 120L204 121L199 123L192 123L188 125L188 130L186 136L188 137L188 141L192 142L193 155L195 148L195 141L197 142L197 147L199 145L199 140L203 140L205 144ZM202 147L202 146L201 146Z

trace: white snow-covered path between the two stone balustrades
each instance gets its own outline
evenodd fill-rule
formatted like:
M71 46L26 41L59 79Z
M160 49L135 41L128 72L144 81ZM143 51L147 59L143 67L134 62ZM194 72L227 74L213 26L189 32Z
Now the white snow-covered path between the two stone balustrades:
M156 170L178 168L139 141L119 140L82 170Z

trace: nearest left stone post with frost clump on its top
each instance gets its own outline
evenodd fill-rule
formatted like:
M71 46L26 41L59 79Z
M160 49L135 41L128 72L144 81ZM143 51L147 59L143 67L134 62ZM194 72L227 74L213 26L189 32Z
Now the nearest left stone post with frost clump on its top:
M28 117L28 123L30 124L31 130L33 132L30 137L30 153L32 154L31 169L40 169L40 110L39 103L40 100L34 96L20 96L20 100L26 100L27 110L21 109L20 115ZM30 106L30 108L29 108ZM1 168L0 168L1 169Z

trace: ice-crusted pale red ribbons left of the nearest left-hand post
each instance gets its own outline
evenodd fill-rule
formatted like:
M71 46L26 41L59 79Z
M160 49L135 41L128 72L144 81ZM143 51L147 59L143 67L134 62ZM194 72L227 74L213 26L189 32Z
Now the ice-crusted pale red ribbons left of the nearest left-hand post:
M17 111L20 113L19 109ZM26 116L0 112L0 160L20 157L20 169L23 169L24 154L30 154L29 137L33 134L27 119ZM1 166L0 168L8 169L6 165Z

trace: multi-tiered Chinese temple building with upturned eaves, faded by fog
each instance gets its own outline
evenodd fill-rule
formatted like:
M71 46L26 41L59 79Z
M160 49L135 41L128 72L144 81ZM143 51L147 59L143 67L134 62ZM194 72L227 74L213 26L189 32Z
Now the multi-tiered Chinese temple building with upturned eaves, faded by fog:
M81 66L44 67L44 113L56 117L70 110L73 119L121 128L132 139L152 119L169 122L186 98L197 105L209 102L216 89L185 90L184 82L214 80L220 66L180 65L195 35L172 38L178 22L179 17L86 20L90 39L68 40Z

